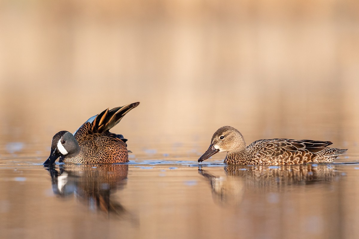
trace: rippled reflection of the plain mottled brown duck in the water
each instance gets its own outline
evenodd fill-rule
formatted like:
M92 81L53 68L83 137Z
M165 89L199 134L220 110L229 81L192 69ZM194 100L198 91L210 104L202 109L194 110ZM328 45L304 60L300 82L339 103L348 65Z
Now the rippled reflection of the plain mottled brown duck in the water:
M291 166L246 166L231 164L224 167L226 176L215 176L199 167L198 172L211 185L216 202L238 204L245 190L257 193L290 191L299 185L331 183L339 171L329 164Z

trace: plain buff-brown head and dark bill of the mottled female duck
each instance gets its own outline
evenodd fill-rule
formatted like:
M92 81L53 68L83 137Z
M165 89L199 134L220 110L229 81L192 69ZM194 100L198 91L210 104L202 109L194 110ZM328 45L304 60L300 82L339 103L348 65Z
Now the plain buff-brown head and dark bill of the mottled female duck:
M213 134L211 145L198 159L198 162L202 162L218 152L232 152L244 148L246 148L246 143L241 132L231 126L223 126Z

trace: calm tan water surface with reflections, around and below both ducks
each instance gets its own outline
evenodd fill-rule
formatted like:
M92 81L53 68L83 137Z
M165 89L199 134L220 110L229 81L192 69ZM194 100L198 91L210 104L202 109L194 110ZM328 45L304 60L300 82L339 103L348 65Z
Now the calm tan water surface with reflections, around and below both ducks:
M206 148L204 147L203 150ZM359 163L227 166L142 150L116 165L0 162L2 238L355 238ZM161 152L162 150L159 150Z

